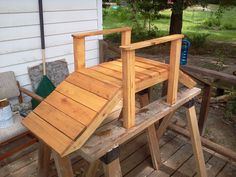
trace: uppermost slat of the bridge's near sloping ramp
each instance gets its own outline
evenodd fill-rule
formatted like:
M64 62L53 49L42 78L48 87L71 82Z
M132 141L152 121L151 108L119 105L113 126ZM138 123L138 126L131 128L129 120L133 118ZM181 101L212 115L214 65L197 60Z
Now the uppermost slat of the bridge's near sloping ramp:
M119 89L116 86L77 72L74 72L69 77L67 77L66 81L77 85L89 92L92 92L98 96L101 96L105 99L111 99L114 93L116 93ZM104 91L104 89L106 89L106 91Z

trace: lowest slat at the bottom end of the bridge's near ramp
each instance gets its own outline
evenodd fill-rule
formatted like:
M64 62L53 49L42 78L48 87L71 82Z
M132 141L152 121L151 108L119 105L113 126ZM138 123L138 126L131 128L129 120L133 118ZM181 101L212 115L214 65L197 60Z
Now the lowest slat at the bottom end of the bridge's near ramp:
M62 153L72 142L69 137L42 120L33 112L31 112L27 118L23 119L22 124L58 153Z

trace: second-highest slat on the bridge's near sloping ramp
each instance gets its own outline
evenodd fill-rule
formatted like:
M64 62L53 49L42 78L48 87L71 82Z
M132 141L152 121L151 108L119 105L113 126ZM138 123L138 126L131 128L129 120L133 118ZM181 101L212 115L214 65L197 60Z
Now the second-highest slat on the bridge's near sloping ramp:
M106 99L66 81L62 82L56 90L96 112L100 111L107 103Z

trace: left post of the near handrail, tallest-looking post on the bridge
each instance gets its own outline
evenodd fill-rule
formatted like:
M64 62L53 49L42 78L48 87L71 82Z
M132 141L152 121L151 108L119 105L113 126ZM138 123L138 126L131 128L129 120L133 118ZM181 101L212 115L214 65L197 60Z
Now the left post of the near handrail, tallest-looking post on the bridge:
M123 126L135 125L135 51L122 51Z

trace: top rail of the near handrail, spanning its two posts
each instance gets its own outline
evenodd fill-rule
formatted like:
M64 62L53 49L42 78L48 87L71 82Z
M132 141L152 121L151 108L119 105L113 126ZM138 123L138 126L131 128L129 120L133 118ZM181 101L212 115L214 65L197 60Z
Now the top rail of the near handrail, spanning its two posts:
M182 38L184 38L184 35L174 34L174 35L164 36L164 37L146 40L146 41L142 41L142 42L136 42L136 43L132 43L132 44L126 45L126 46L120 46L120 48L124 49L124 50L135 50L135 49L140 49L140 48L144 48L144 47L149 47L152 45L157 45L157 44L162 44L162 43L166 43L166 42L170 42L170 41L180 40Z

